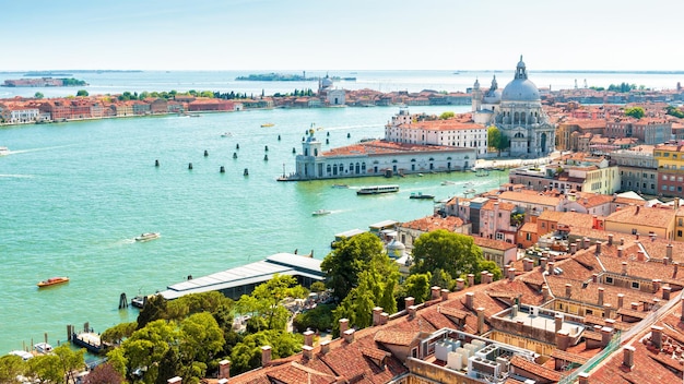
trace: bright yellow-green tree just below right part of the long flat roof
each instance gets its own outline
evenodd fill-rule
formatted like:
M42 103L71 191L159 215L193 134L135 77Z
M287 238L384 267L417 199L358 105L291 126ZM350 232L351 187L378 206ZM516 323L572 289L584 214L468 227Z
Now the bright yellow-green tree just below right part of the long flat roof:
M275 274L272 279L257 286L250 296L243 295L237 307L240 313L252 313L266 320L268 329L284 329L290 311L279 304L286 298L304 298L306 293L293 276Z

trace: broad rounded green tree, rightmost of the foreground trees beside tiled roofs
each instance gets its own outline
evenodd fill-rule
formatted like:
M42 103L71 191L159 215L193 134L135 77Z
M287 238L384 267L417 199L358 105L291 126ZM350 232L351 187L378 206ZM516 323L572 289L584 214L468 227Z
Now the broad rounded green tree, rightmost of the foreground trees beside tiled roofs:
M470 236L438 229L415 240L413 260L412 274L444 269L456 278L476 272L482 250Z

